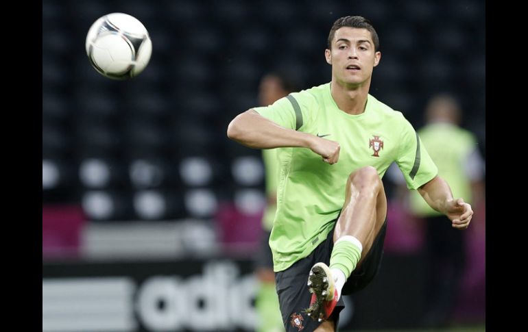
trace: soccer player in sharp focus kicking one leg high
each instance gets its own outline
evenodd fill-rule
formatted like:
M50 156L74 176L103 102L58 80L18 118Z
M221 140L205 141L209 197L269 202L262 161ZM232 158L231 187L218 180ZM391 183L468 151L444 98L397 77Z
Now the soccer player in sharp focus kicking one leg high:
M403 114L368 93L381 58L370 21L337 19L324 55L331 82L243 112L227 130L245 146L279 148L269 245L287 331L335 331L341 294L361 290L376 274L387 214L381 177L392 162L453 227L466 229L473 213L453 199Z

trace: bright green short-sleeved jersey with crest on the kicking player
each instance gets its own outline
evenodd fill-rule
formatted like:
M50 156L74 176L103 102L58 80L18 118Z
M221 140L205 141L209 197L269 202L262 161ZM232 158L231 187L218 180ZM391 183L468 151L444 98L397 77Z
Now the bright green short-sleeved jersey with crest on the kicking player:
M334 140L341 147L339 162L333 165L310 149L277 149L277 212L269 238L275 272L307 257L326 239L343 207L346 180L354 170L373 166L383 177L396 162L410 189L437 174L409 121L370 94L365 112L358 115L339 110L330 83L254 110L282 127Z

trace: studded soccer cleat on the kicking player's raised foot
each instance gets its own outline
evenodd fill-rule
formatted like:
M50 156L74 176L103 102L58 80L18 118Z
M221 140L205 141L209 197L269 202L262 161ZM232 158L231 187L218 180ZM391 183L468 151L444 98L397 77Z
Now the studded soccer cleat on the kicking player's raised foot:
M310 307L304 309L304 312L318 322L328 319L338 298L330 268L324 263L312 266L307 285L312 297Z

